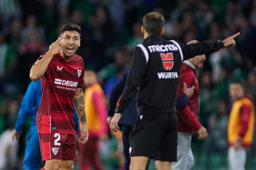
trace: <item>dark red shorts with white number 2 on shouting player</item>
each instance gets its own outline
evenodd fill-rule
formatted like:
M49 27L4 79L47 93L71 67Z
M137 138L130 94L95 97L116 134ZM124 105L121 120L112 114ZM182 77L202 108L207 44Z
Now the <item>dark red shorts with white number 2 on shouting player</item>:
M38 133L42 160L77 160L76 135Z

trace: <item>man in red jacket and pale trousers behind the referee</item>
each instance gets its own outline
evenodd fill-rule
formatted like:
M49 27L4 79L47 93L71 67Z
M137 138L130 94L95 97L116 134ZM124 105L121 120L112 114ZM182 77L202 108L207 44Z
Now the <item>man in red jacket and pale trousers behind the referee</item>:
M187 44L195 44L198 41L189 41ZM203 67L206 60L204 54L197 55L186 61L183 61L180 69L180 77L178 84L177 96L183 93L183 82L188 87L195 86L194 94L189 99L189 104L178 110L178 147L177 162L172 163L173 170L189 170L194 165L194 156L191 150L192 134L197 132L198 139L205 140L208 136L206 128L204 128L197 119L199 105L199 85L196 77L196 69Z

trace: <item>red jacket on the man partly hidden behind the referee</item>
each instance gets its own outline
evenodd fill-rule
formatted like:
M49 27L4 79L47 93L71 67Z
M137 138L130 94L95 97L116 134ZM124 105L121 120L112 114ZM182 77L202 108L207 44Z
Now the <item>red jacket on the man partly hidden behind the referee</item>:
M201 128L201 123L197 119L198 105L199 105L199 85L196 78L196 68L194 65L186 60L181 64L180 77L178 84L177 96L183 94L183 82L187 86L195 86L193 96L189 98L188 106L177 111L178 113L178 132L195 133Z

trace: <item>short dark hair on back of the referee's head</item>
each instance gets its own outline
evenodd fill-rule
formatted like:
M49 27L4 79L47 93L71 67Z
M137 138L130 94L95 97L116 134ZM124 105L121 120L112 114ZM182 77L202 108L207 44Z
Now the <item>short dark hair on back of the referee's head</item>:
M164 25L164 17L158 12L147 13L143 17L143 26L148 34L160 34Z

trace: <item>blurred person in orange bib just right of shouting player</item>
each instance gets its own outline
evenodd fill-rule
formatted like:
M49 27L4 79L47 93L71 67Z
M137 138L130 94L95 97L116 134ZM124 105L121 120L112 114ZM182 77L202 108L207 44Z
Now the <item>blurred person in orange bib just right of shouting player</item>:
M101 164L99 142L107 139L108 125L106 122L106 101L104 92L97 82L95 72L86 70L85 82L85 112L87 118L87 129L90 134L85 144L79 144L81 170L104 170ZM81 132L80 132L81 135Z

